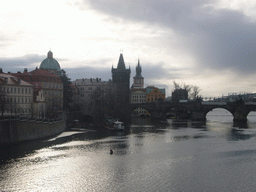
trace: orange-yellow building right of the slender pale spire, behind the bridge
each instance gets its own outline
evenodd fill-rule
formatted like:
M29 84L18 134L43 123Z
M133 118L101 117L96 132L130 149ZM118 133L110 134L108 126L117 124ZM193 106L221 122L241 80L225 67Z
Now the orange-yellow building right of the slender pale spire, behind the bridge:
M146 87L146 102L164 102L165 101L165 89L159 89L154 86Z

